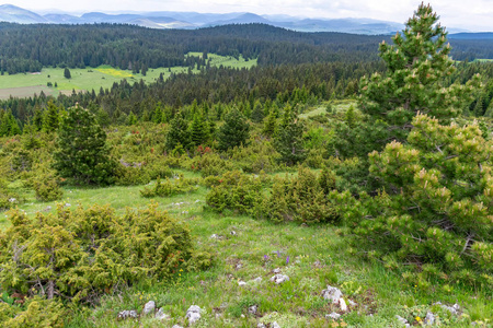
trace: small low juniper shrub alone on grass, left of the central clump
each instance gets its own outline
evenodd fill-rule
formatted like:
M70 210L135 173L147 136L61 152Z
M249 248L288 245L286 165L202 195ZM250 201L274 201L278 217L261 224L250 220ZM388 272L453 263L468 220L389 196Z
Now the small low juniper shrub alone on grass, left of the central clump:
M161 181L161 178L158 177L156 185L151 188L145 187L140 190L140 195L146 198L170 197L195 191L197 190L197 184L196 179L187 179L182 174L173 179L165 178L164 181Z

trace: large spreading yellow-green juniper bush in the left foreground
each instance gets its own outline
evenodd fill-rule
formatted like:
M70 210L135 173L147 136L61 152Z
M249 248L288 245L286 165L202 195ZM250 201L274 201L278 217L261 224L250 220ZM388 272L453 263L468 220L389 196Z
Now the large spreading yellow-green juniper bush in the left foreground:
M21 211L9 218L0 238L0 283L11 293L94 303L122 286L210 263L194 254L188 229L156 203L125 215L94 206L59 207L33 221Z

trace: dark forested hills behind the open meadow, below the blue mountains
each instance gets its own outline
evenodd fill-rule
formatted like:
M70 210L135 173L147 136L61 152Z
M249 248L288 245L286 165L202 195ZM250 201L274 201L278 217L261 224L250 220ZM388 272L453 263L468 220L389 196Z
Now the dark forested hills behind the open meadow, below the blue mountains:
M19 25L0 23L0 71L39 71L42 67L110 65L141 70L191 65L185 54L206 51L259 65L372 61L389 36L301 33L265 24L226 25L195 31L151 30L122 24ZM488 40L452 42L457 60L493 58Z

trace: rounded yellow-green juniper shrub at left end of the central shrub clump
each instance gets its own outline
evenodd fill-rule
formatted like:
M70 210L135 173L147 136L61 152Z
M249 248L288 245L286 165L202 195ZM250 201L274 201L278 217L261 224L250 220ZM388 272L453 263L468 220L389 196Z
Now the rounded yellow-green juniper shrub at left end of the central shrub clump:
M225 173L206 196L207 207L216 212L232 210L251 213L262 201L262 179L239 171Z

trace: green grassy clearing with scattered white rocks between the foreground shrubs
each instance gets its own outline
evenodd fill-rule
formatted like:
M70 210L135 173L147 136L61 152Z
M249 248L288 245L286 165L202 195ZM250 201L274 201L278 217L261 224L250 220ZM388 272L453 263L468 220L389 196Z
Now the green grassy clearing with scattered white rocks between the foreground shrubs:
M186 177L196 173L182 171ZM149 202L139 196L144 186L102 189L65 189L62 203L87 207L92 203L112 204L118 213L126 207L142 208ZM259 323L277 321L280 327L400 327L395 315L417 325L432 304L459 303L468 317L450 317L433 308L444 326L468 327L472 320L493 319L491 295L468 288L439 286L422 290L410 285L378 262L366 262L354 256L346 239L337 234L337 226L273 224L232 212L217 214L204 209L207 189L172 198L157 198L159 208L169 211L187 224L198 249L215 256L215 265L207 271L180 272L172 281L152 285L137 285L108 295L95 308L78 309L67 327L171 327L186 325L186 309L196 304L204 309L203 318L194 327L256 327ZM21 207L31 216L55 203L34 200ZM176 204L183 202L182 204ZM5 222L3 222L3 225ZM231 234L234 232L236 234ZM216 234L219 238L211 238ZM288 259L289 257L289 259ZM270 281L273 270L280 268L289 281L279 285ZM261 282L253 280L261 277ZM239 281L246 282L240 286ZM321 297L328 284L340 288L344 296L358 305L342 319L328 321L325 315L337 307ZM489 298L490 297L490 298ZM140 312L148 301L156 301L171 319L157 321L151 317L117 321L119 311ZM259 315L248 313L259 306Z

